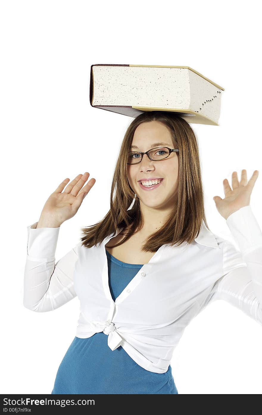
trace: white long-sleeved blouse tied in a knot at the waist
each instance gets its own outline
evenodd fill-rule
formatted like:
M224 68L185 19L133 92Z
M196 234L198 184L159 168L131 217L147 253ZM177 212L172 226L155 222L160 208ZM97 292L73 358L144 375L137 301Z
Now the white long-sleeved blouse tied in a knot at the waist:
M239 246L210 232L204 221L192 244L162 245L113 301L105 245L79 242L55 261L60 227L27 227L24 307L55 310L78 296L76 337L108 335L144 369L164 373L185 327L214 300L226 300L262 324L262 232L250 205L226 223ZM124 268L123 268L124 272Z

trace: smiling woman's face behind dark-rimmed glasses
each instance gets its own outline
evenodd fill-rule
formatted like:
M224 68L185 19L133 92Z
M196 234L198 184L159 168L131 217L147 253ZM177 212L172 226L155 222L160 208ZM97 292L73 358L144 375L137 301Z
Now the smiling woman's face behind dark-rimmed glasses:
M156 145L155 143L161 143ZM148 151L155 147L169 147L174 149L169 129L159 121L143 122L135 130L129 151ZM157 150L156 150L157 151ZM172 152L167 159L153 161L146 154L138 164L127 165L127 177L134 193L138 196L140 204L155 209L172 208L178 188L179 157ZM139 181L150 178L163 179L159 186L150 190L145 189Z

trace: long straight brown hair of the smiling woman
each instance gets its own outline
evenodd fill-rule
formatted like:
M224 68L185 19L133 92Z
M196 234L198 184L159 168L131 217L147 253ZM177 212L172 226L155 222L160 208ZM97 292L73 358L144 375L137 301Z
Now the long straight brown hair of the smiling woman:
M121 233L124 232L125 237L114 245L117 247L143 227L139 198L129 185L126 168L129 146L136 127L149 121L163 122L170 131L174 149L179 149L175 153L179 157L179 183L170 217L157 232L150 234L141 247L142 251L156 252L163 244L190 244L198 236L202 220L209 229L204 212L199 149L193 129L176 112L146 111L138 115L126 130L112 180L110 210L100 222L81 228L82 246L91 248L102 243L109 235L116 234L119 227L123 228Z

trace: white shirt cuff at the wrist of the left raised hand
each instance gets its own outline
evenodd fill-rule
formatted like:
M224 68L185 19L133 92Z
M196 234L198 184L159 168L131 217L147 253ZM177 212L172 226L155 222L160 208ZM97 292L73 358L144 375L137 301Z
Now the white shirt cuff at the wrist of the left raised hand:
M27 227L27 255L35 261L49 261L56 253L60 227L36 229L37 224Z

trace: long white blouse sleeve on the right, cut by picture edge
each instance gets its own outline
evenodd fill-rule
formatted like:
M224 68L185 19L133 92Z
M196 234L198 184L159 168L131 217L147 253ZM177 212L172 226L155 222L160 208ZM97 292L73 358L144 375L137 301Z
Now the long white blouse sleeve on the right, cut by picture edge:
M232 213L226 223L239 250L223 244L223 275L201 309L225 300L262 325L262 232L250 205Z

